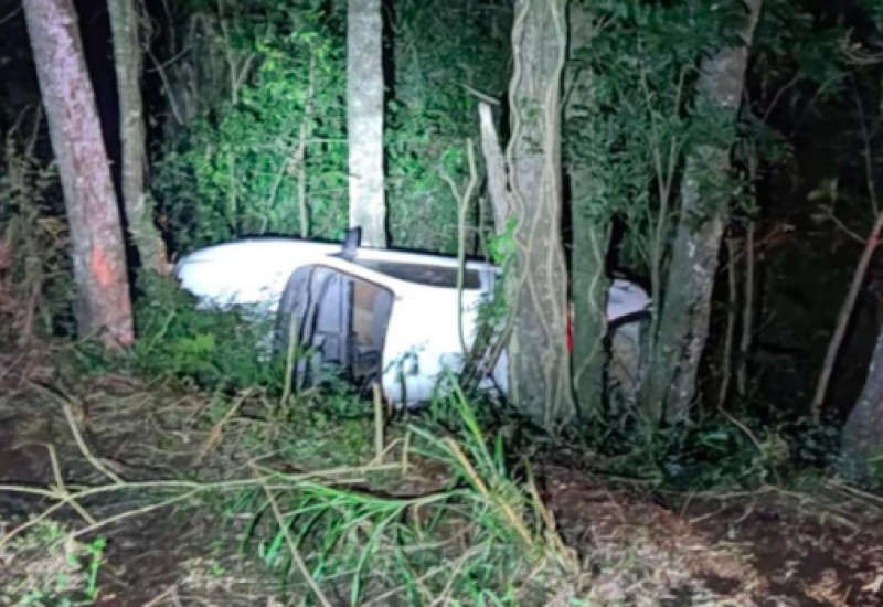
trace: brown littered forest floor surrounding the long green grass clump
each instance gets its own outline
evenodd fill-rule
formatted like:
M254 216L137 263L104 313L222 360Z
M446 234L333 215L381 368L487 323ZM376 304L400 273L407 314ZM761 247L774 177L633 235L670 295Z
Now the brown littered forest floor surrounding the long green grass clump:
M118 372L73 382L56 355L0 354L0 605L347 605L328 588L313 601L287 586L266 545L243 549L249 518L230 490L259 487L248 483L267 468L392 494L448 480L415 457L372 484L358 464L371 459L370 419L300 427L309 445L260 452L280 424L259 394L222 401ZM881 497L834 479L811 491L660 493L556 460L534 462L536 493L577 571L552 598L519 605L883 605ZM73 587L82 601L57 599Z

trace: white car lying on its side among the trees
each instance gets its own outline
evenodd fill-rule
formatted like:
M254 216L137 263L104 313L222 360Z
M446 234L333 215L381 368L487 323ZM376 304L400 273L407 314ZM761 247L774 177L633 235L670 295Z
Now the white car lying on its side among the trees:
M478 308L500 270L483 262L460 269L455 257L360 247L354 230L342 247L295 238L210 246L183 257L174 274L203 307L247 306L275 317L277 351L297 344L311 352L296 368L300 385L332 365L357 385L379 381L390 402L409 406L432 398L446 369L461 368ZM637 285L614 280L607 320L614 340L623 342L619 350L637 352L649 302ZM638 356L628 358L617 374L632 382ZM506 370L503 353L486 384L506 391Z

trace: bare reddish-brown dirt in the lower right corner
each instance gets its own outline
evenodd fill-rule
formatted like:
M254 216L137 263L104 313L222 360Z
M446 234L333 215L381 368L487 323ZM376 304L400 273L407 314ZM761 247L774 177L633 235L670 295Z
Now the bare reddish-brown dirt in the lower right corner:
M611 489L573 470L546 472L550 503L571 543L597 550L640 537L639 550L655 555L656 574L671 576L675 589L660 605L693 604L699 597L679 595L677 587L694 577L722 605L883 605L883 502L874 496L831 483L816 496L769 487L669 497L662 507L652 496ZM666 571L666 564L682 569Z

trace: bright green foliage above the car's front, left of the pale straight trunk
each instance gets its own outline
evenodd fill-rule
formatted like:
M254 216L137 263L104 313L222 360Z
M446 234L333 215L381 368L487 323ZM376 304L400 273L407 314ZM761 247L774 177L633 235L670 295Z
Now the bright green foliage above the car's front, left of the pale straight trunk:
M204 39L184 43L180 79L167 89L177 114L153 188L181 247L260 234L338 238L345 228L344 32L339 7L313 4L179 9ZM194 72L210 75L187 79ZM182 115L174 104L187 95L199 100Z

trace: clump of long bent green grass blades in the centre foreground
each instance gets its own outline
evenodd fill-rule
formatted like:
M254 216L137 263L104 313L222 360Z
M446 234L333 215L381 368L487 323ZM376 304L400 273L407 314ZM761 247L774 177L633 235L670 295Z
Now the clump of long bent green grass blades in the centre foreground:
M254 493L238 504L251 517L244 546L295 586L308 572L320 603L545 605L545 588L575 567L573 556L530 478L513 476L464 394L447 404L464 422L458 434L407 427L408 460L418 472L446 470L444 487L403 493L394 482L309 481Z

